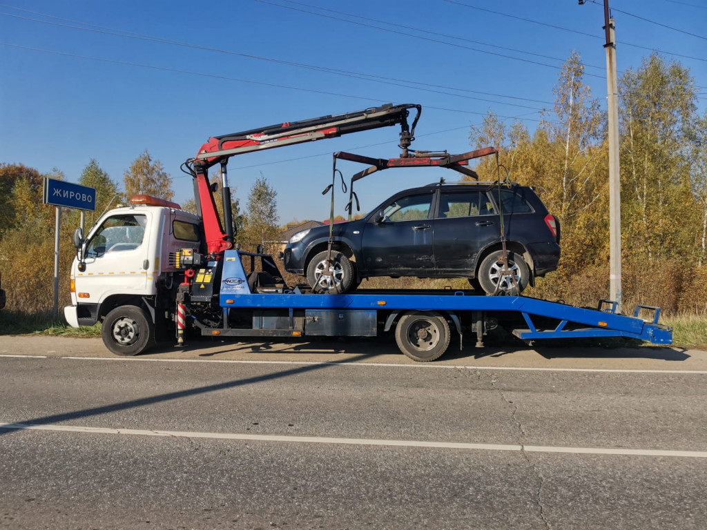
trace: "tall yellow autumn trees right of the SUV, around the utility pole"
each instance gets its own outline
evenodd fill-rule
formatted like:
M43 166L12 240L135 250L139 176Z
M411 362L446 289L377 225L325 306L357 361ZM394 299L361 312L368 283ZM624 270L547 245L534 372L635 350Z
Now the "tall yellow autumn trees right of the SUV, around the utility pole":
M477 168L534 186L561 221L559 270L528 294L592 305L609 292L607 115L573 53L554 107L533 134L493 113L472 127L473 146L501 148ZM658 54L619 80L621 261L624 305L707 313L707 112L697 111L688 69ZM629 309L626 307L626 309Z

